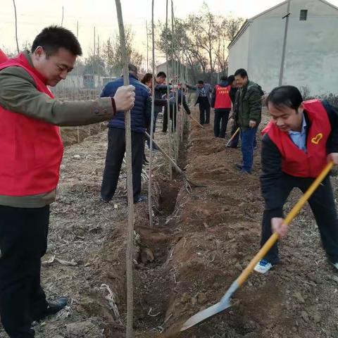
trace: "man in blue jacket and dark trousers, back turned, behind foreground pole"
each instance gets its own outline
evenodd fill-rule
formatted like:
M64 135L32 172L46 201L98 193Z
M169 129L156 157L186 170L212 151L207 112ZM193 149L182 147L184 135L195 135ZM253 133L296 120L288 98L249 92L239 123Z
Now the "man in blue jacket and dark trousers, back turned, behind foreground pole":
M137 68L129 65L130 84L135 87L135 103L130 111L132 129L132 187L134 203L146 199L141 195L141 174L144 154L144 132L151 121L151 93L149 89L137 79ZM114 96L119 87L123 86L123 77L108 82L101 93L101 97ZM123 156L125 155L125 114L118 111L108 123L108 149L104 178L101 186L101 199L111 201L118 185Z

